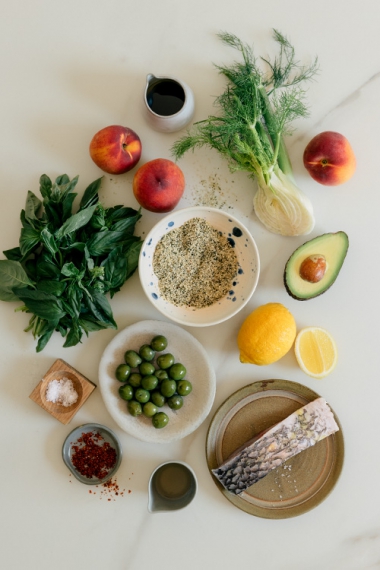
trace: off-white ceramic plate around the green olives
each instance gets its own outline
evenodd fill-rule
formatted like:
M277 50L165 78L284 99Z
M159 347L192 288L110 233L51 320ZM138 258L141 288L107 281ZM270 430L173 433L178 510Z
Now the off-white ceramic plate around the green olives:
M193 385L180 410L171 410L167 405L161 408L169 416L168 425L162 429L155 429L151 419L129 414L127 402L118 393L121 383L115 378L116 367L124 362L125 351L138 350L158 334L166 336L165 352L172 353L176 362L184 364L186 379ZM168 443L192 433L209 414L215 398L215 372L203 346L187 331L164 321L140 321L120 331L102 355L99 382L104 403L119 427L138 439L154 443Z

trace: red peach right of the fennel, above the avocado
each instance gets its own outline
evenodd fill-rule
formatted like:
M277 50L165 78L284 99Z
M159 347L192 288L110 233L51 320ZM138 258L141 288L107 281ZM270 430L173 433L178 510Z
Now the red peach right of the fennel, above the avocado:
M310 176L325 186L347 182L356 169L354 151L346 137L324 131L306 146L303 163Z

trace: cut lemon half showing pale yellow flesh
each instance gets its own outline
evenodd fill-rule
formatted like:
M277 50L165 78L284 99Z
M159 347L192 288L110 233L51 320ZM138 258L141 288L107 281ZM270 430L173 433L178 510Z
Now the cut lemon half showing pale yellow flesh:
M313 378L324 378L338 361L335 340L325 329L306 327L296 337L294 351L300 368Z

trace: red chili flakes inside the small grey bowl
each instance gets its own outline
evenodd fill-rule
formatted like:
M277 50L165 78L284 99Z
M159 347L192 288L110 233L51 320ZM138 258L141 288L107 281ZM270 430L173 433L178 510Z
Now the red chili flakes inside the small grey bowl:
M82 433L72 449L72 464L88 479L103 479L116 463L116 450L104 441L99 432Z

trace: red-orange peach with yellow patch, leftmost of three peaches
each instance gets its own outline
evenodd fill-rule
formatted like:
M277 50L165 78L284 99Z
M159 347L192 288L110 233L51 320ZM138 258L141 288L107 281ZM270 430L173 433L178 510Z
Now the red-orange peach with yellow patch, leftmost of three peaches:
M141 141L128 127L111 125L97 132L90 143L90 156L109 174L124 174L140 160Z

